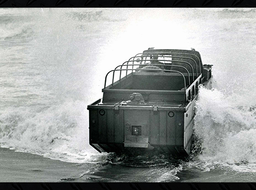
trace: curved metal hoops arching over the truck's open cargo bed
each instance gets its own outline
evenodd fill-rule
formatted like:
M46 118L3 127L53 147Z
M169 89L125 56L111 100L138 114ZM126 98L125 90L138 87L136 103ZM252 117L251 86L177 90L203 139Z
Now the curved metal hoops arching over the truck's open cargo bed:
M165 55L156 55L156 54L165 54ZM169 55L166 55L169 54ZM173 56L173 55L178 55L178 56ZM179 56L181 55L181 56ZM189 56L194 56L195 59L197 59L198 61L196 61L194 58L191 57L185 57L186 55ZM154 59L154 57L162 57L163 59ZM136 58L138 58L136 60ZM153 59L152 59L153 58ZM171 58L171 59L169 59ZM187 59L187 60L191 60L190 62L188 61L181 61L181 60L173 60L172 58L182 58L182 59ZM146 63L146 61L148 61L148 64ZM159 62L164 62L163 64L154 64L154 63L150 63L150 61L159 61ZM140 63L140 64L136 64ZM142 63L146 63L146 64L142 64ZM168 63L169 62L169 63ZM129 64L131 63L131 64ZM173 63L184 63L187 64L189 66L189 68L191 69L191 74L192 74L192 79L193 81L190 81L190 73L189 70L187 69L188 67L185 66L181 66L181 65L174 65ZM191 63L194 63L195 65L191 65ZM139 67L139 68L134 68L134 66L147 66L147 65L152 65L152 66L164 66L164 69L152 69L152 68L143 68L143 67ZM199 65L199 66L198 66ZM124 69L123 66L125 66L126 68ZM129 68L129 67L132 68ZM120 69L118 69L120 67ZM186 78L184 76L184 73L178 71L178 70L172 70L172 69L166 69L166 67L177 67L177 68L182 68L184 69L184 72L187 73L188 79L187 82L189 84L189 87L187 87L186 85ZM199 70L198 70L199 67ZM195 75L194 75L194 68L196 69L196 79L195 79ZM187 54L187 53L166 53L166 52L152 52L152 53L139 53L134 57L131 57L128 61L125 61L124 63L122 63L121 65L118 65L114 70L110 70L110 72L108 72L108 74L106 74L105 76L105 81L104 81L104 88L106 88L106 82L107 82L107 78L109 76L110 73L113 73L113 77L112 77L112 86L114 85L114 80L115 80L115 73L116 72L120 72L120 76L119 76L119 80L121 80L122 77L122 71L125 71L125 77L127 77L128 75L128 71L133 72L139 72L141 70L145 70L147 72L159 72L160 70L163 72L166 72L165 75L171 75L170 73L178 73L179 75L182 76L183 81L184 81L184 90L186 93L186 101L190 102L191 100L193 100L195 98L195 96L198 94L198 86L199 84L202 83L202 73L201 73L201 61L200 58L197 55L194 54Z

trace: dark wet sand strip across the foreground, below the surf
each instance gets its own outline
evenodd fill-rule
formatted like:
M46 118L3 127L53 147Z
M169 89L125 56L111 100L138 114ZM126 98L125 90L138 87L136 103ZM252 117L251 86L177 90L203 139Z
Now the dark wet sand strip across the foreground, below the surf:
M157 182L163 175L150 167L70 163L0 148L0 182ZM90 172L89 172L90 170ZM145 174L147 177L145 177ZM251 182L256 174L226 170L180 171L173 182ZM173 179L172 179L173 178ZM240 180L239 180L240 179Z

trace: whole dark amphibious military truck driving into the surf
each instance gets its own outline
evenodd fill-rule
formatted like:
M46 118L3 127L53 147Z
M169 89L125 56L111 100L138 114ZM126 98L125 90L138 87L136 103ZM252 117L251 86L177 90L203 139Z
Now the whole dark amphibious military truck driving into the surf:
M88 106L90 145L189 155L195 101L199 85L210 86L211 66L194 49L150 48L110 70L103 98Z

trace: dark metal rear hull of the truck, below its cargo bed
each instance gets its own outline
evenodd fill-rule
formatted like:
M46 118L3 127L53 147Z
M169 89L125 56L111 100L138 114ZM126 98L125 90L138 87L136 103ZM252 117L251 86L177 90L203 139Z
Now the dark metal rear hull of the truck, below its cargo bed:
M211 81L203 83L210 88ZM186 107L111 106L98 105L101 100L89 106L90 145L99 152L121 152L140 148L158 149L170 154L189 155L191 152L195 102ZM100 110L105 114L101 115ZM168 113L174 112L170 117ZM141 134L133 135L132 128L140 127Z

